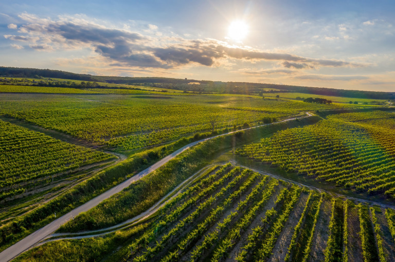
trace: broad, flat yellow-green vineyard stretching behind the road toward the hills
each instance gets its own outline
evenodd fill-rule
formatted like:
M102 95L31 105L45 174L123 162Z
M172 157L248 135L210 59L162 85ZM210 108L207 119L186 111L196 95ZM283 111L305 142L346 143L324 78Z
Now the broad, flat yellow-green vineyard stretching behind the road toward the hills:
M0 95L0 114L78 138L133 150L193 136L255 126L306 111L354 108L223 95Z

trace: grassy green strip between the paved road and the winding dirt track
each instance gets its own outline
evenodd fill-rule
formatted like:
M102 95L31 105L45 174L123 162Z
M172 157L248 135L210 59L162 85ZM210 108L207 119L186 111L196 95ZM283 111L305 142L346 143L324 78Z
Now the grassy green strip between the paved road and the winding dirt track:
M138 180L124 191L106 199L97 207L77 216L62 231L99 229L112 226L141 213L177 185L203 168L217 152L241 145L257 137L300 123L278 123L224 135L200 143L170 160L165 166Z

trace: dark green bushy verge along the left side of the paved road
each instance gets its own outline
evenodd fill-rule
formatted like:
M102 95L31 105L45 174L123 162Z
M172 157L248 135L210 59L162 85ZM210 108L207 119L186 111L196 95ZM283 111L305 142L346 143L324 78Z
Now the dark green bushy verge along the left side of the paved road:
M136 154L131 159L95 174L44 205L13 219L12 222L5 223L0 228L0 250L54 220L55 212L61 215L82 205L172 151L172 147L162 147L155 149L153 154L150 153L152 151Z

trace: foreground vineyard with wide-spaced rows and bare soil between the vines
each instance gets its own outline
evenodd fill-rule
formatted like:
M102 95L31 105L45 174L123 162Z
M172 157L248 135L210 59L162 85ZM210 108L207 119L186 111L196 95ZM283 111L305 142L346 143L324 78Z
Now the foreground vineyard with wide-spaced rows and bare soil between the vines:
M393 209L227 164L140 224L51 241L15 261L393 261L394 223Z

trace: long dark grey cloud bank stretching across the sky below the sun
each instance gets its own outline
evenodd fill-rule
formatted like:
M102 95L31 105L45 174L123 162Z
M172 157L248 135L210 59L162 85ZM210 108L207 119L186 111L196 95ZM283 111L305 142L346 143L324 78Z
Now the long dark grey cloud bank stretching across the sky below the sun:
M244 61L279 61L286 68L358 67L346 61L315 59L289 53L263 52L258 49L229 46L216 39L189 40L178 36L147 36L128 27L103 26L81 15L59 16L57 20L23 13L26 21L19 27L21 35L5 35L12 41L28 42L34 50L67 50L88 48L107 59L109 65L163 68L189 64L216 66L227 59ZM157 30L157 26L145 28ZM144 29L142 29L144 31ZM157 32L160 33L160 32Z

